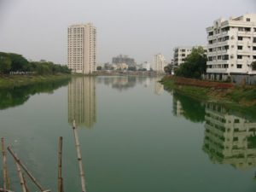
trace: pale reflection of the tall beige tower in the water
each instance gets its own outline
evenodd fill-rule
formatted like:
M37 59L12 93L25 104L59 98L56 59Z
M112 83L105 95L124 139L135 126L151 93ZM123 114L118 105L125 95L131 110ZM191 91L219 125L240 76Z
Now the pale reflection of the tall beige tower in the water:
M96 78L73 78L68 84L68 123L75 119L80 127L96 123Z

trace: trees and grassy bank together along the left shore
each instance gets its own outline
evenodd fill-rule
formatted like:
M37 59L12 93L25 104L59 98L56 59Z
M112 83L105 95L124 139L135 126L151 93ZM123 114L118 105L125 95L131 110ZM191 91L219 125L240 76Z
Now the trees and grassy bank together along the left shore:
M67 66L50 61L27 61L22 55L0 52L0 89L70 78Z

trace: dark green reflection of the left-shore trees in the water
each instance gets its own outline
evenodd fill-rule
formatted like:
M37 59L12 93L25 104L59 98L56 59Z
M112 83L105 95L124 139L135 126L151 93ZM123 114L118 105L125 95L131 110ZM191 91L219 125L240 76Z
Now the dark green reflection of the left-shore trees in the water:
M38 93L53 93L53 90L66 86L70 79L61 79L50 82L35 83L0 90L0 110L23 105L28 99Z

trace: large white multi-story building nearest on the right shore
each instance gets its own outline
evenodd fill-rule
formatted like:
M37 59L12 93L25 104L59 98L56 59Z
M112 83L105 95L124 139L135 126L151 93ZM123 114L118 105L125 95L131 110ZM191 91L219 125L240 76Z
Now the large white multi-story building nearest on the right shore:
M219 19L207 27L207 79L225 80L233 74L256 74L256 14Z

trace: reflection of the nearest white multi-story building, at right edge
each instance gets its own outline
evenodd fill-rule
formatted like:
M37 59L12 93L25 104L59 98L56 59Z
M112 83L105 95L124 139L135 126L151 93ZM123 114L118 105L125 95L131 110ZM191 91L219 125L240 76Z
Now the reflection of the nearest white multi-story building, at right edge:
M205 119L203 150L212 162L237 169L256 166L256 122L213 103L207 103Z

